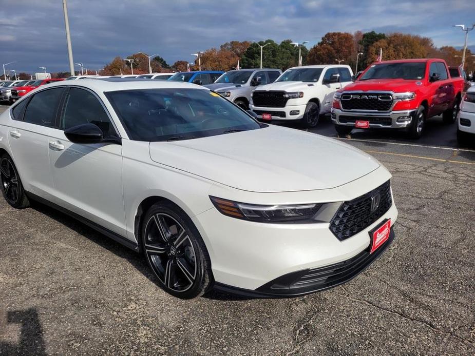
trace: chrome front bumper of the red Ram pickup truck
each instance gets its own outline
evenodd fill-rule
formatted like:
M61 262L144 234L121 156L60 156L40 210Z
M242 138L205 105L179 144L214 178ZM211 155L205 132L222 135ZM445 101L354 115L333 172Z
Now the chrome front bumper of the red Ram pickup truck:
M356 120L369 121L370 128L401 129L414 120L417 110L390 112L345 111L332 108L332 122L336 125L355 127Z

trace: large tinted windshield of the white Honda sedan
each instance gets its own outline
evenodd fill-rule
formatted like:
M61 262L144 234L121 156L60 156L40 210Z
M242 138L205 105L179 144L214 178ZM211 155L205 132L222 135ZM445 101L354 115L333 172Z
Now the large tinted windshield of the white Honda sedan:
M189 140L261 128L244 111L209 90L136 89L106 95L136 141Z

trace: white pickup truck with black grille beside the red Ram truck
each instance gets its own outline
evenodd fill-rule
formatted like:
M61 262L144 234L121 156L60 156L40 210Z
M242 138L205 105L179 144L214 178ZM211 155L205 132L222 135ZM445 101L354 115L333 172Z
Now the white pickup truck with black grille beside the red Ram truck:
M277 80L254 90L250 109L263 121L301 120L315 127L321 114L329 113L333 94L352 82L350 66L293 67Z

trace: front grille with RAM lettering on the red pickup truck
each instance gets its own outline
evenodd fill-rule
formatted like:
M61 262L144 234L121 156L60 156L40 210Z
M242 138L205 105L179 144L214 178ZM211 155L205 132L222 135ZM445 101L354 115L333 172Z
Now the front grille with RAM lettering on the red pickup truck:
M392 106L391 94L343 93L340 98L343 110L388 111Z

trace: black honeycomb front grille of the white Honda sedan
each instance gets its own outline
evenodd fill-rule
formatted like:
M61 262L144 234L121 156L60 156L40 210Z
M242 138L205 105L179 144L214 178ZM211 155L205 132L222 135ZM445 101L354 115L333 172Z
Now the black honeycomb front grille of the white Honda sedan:
M371 212L372 197L378 193L380 196L379 206ZM391 205L391 187L387 181L369 193L341 204L330 222L330 230L338 240L351 238L383 216Z

